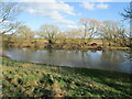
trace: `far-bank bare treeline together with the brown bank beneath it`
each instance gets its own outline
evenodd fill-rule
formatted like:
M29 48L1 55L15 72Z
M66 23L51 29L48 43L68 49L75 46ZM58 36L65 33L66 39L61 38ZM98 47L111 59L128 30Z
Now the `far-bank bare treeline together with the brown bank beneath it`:
M44 44L78 44L87 46L95 37L99 37L103 46L131 47L130 31L122 23L114 21L99 22L95 19L79 20L80 28L62 32L58 26L43 24L37 31L21 25L12 34L4 34L4 45L43 47Z

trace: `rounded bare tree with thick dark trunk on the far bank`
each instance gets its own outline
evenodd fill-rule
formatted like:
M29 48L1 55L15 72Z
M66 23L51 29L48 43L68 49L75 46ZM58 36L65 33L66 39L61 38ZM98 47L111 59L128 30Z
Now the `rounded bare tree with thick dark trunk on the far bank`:
M57 34L58 28L52 24L43 24L37 33L41 37L46 38L50 44L57 40Z

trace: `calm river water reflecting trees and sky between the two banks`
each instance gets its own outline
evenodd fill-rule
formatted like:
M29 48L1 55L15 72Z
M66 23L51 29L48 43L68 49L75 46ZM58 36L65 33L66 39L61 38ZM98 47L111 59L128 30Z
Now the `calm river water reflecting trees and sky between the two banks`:
M131 73L130 51L64 51L4 48L3 54L12 59L44 64L87 67Z

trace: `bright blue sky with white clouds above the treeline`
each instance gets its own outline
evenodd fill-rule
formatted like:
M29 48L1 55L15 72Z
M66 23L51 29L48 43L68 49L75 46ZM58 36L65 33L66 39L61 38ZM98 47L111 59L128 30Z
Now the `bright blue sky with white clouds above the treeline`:
M91 18L100 22L106 20L121 21L129 2L20 2L23 12L19 20L32 30L42 24L55 24L62 30L80 26L80 18Z

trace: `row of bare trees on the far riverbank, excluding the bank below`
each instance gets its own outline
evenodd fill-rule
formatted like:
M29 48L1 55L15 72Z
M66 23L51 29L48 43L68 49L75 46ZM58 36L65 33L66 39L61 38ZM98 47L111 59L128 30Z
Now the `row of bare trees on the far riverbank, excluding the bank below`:
M108 42L109 45L114 43L120 46L127 46L129 40L129 31L120 22L116 21L103 21L99 22L94 19L84 18L80 19L82 28L69 30L67 32L61 32L59 28L53 24L43 24L38 31L32 31L26 25L21 25L12 34L12 38L16 41L32 42L34 36L46 40L50 44L55 43L57 40L66 38L80 38L87 40L84 43L88 43L95 36L102 38L103 42Z

